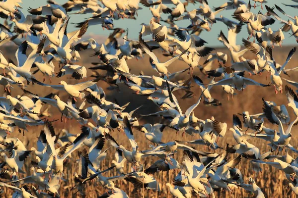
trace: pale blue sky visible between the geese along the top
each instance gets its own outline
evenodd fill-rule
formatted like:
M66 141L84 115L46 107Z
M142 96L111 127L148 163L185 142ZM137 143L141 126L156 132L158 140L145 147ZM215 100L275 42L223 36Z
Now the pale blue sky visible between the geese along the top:
M67 0L56 0L58 3L65 3L67 2ZM219 6L221 4L223 4L224 2L226 2L227 0L208 0L209 6L211 8L213 8L214 6ZM248 0L244 0L247 1ZM183 0L182 0L183 2ZM282 9L284 9L284 11L286 11L288 14L294 16L295 14L298 13L298 9L289 7L289 6L285 6L283 5L281 2L286 3L286 4L297 4L292 0L269 0L269 2L267 3L268 6L272 7L274 6L274 3L277 3L277 5L279 5ZM253 5L254 1L251 0L251 4ZM23 0L23 3L21 4L23 7L23 12L24 14L27 14L27 9L29 7L31 8L37 8L41 5L45 5L46 4L46 0ZM260 5L260 3L257 3L257 5ZM196 3L195 5L193 4L189 4L187 6L187 10L192 10L195 8L198 8L200 6L200 3ZM149 20L151 18L151 12L149 10L148 7L145 6L141 6L143 7L143 10L139 10L138 11L138 17L137 20L132 20L132 19L120 19L120 20L114 20L114 26L115 27L121 27L121 28L128 28L129 29L129 38L130 39L137 39L138 38L138 32L141 29L141 23L147 23L149 24ZM169 5L169 7L173 7L173 5ZM261 10L261 12L265 13L266 9L265 6L264 10L261 10L261 6L256 7L256 9L254 9L252 7L252 12L254 13L258 13L259 10ZM284 16L282 13L280 13L278 10L276 10L276 13L281 16L283 19L288 20L287 16ZM232 10L224 10L222 12L220 12L220 14L222 14L224 17L227 17L229 19L233 19L231 17L232 14ZM219 14L219 15L220 15ZM72 23L77 23L77 22L81 22L83 21L83 19L90 17L91 14L81 14L81 15L71 15L71 22ZM162 14L161 17L163 19L167 18L166 14ZM233 19L234 20L234 19ZM186 27L190 24L189 20L184 20L184 21L179 21L176 23L179 27ZM279 27L281 27L282 24L280 24L279 21L276 21L273 25L271 25L270 27L273 30L277 30ZM68 26L68 28L70 29L69 31L73 31L75 30L75 27L73 24L70 23L70 25ZM222 22L218 22L216 24L213 25L212 30L210 32L207 31L203 31L200 35L201 38L203 38L205 41L207 41L209 43L210 46L222 46L222 44L217 40L217 35L220 33L220 31L223 30L224 34L227 36L227 28L226 26L222 23ZM111 31L108 30L102 30L101 26L90 26L88 28L87 33L89 34L96 34L96 35L109 35L111 33ZM294 39L294 37L289 38L289 34L288 33L284 33L285 34L285 40L284 40L284 45L293 45L296 44L296 41ZM247 31L246 31L246 25L244 25L242 27L242 30L240 32L240 34L237 37L237 43L241 44L241 39L243 38L247 38Z

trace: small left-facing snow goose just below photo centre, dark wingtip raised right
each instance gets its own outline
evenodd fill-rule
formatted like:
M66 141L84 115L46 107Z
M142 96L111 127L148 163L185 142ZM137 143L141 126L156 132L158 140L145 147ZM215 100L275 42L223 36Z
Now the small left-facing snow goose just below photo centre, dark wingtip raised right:
M134 126L133 128L138 129L139 131L145 133L145 138L147 140L149 140L151 143L153 143L154 145L159 144L161 142L161 138L162 138L162 132L164 130L164 128L166 127L166 125L163 124L144 124L142 126Z

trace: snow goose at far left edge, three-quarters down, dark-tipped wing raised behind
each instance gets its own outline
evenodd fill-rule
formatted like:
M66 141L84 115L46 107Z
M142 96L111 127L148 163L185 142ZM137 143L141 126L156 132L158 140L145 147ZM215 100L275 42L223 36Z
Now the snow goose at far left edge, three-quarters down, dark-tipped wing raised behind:
M14 171L15 174L25 172L22 170L24 160L30 155L31 150L15 150L12 149L10 157L4 152L1 152L1 156L4 157L5 163Z

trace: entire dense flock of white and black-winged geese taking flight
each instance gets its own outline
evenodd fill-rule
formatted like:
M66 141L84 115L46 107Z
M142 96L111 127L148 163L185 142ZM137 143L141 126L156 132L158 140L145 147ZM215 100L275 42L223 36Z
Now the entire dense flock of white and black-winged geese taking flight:
M257 198L264 198L254 179L249 178L248 183L244 182L240 170L236 168L241 158L246 158L256 172L262 171L261 164L279 169L298 195L298 158L294 159L289 154L298 153L295 146L291 145L291 130L298 123L298 96L288 86L298 89L298 83L294 79L281 77L298 71L298 67L286 67L296 47L289 51L282 64L275 61L272 53L274 48L282 47L286 38L293 40L293 43L298 42L298 16L290 16L284 11L286 6L298 8L298 1L293 0L296 3L294 5L279 3L275 7L267 6L266 0L253 0L253 6L250 0L245 1L228 0L223 5L211 8L207 0L69 0L65 4L49 0L44 6L30 8L29 14L25 16L22 0L1 0L0 17L3 23L0 24L0 46L7 49L6 54L0 52L0 85L4 90L3 97L0 97L1 192L4 188L10 188L15 191L13 198L60 197L61 182L65 181L67 174L64 170L72 160L78 164L73 175L72 190L74 194L80 193L82 196L85 185L92 180L96 181L99 188L106 190L106 194L100 198L128 198L120 189L121 186L115 186L116 180L131 182L136 189L159 192L161 186L154 174L176 169L178 174L172 183L166 183L169 192L176 198L197 195L215 197L215 191L230 192L233 188L243 188ZM186 10L189 3L196 5L197 9ZM259 6L261 11L255 11ZM149 24L142 24L138 40L128 39L128 30L114 27L113 20L135 19L138 10L147 8L152 18L150 21L144 20ZM231 16L224 17L220 14L222 10L230 10ZM77 29L69 32L71 14L92 16L75 23ZM180 20L190 25L178 27L175 22ZM272 30L270 25L278 21L282 23L281 28ZM199 37L202 31L212 31L214 23L224 23L227 27L227 32L220 31L218 40L229 50L229 54L220 51L212 53L214 49ZM82 41L91 25L101 25L103 29L112 29L113 33L102 44L92 38ZM248 33L248 38L242 39L244 49L236 43L236 36L241 29ZM119 44L118 40L125 32L124 43ZM285 36L285 32L289 32L290 37ZM150 35L149 40L145 39L147 35ZM12 43L17 48L11 48ZM8 58L8 53L12 53L8 48L16 49L13 51L16 61ZM92 70L91 76L87 76L85 66L78 65L80 51L87 49L92 51L90 56L98 57L98 63L87 68ZM156 56L160 50L169 58L166 62ZM245 59L243 54L246 51L254 53L255 59ZM156 75L130 73L127 61L141 59L145 54L149 55L149 63ZM228 56L230 67L224 65ZM199 65L202 57L204 66ZM168 67L177 61L185 62L188 67L170 73ZM217 62L220 66L213 69ZM197 67L203 75L212 78L210 83L193 75ZM98 70L105 70L106 74L101 75ZM186 71L190 80L175 81L177 76ZM43 79L36 78L38 72L43 74ZM266 78L267 84L250 78L252 75L261 76L262 72L266 73L263 78ZM244 77L245 73L249 76ZM76 79L78 83L60 81L58 85L52 84L51 78L62 76ZM120 106L106 99L103 89L97 86L99 81L105 81L110 85L110 90L117 91L119 85L124 84L135 94L147 97L159 110L142 115L136 113L139 108L146 107L144 104L128 112L126 108L129 103ZM182 90L185 98L192 98L192 81L200 97L187 110L182 110L174 93ZM278 105L274 99L263 99L263 112L251 115L245 111L241 114L243 122L238 115L233 115L233 126L230 128L216 117L202 120L194 114L194 109L202 99L206 105L222 105L211 95L214 86L221 86L229 99L237 90L241 91L247 86L274 87L276 94L283 94L285 83L285 97L289 101L287 105ZM23 94L12 97L16 86L22 89ZM69 99L64 101L55 94L37 96L28 91L32 87L34 90L51 90L52 93L59 90L67 93ZM293 109L294 118L290 118L286 106ZM60 120L51 119L51 107L59 110ZM164 124L140 125L140 116L162 117ZM55 123L67 123L70 119L81 125L80 134L74 135L65 129L59 133L54 130ZM278 130L266 127L270 123L278 125ZM43 125L43 130L36 146L31 149L26 148L27 145L18 138L10 137L15 129L29 137L32 134L31 126L36 125ZM199 134L201 138L192 138L188 142L162 142L166 127L181 131L182 136ZM144 139L151 144L149 148L138 146L135 136L142 134L136 130L145 134ZM227 130L232 132L237 145L226 145L224 148L218 141ZM116 141L117 138L113 138L116 133L121 136L125 134L125 137ZM270 146L268 152L261 153L257 146L249 143L253 138L266 141ZM127 139L131 148L121 145ZM110 147L103 149L104 145L116 148L116 152L112 153ZM204 145L206 149L197 150L193 145ZM285 149L289 152L282 155ZM183 161L175 159L177 150L183 150ZM275 152L277 155L273 154ZM237 157L229 159L229 153L237 153ZM111 167L101 164L107 154L115 155ZM31 162L30 173L23 168L28 156L36 157ZM158 160L146 167L152 156L158 157ZM131 169L127 168L128 164L132 165ZM116 176L106 177L105 173L112 170L116 170Z

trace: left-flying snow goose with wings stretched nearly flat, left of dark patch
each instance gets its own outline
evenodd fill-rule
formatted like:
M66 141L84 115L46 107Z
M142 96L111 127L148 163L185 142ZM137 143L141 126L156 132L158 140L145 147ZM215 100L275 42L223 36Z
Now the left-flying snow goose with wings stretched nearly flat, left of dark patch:
M77 83L75 85L69 85L65 81L60 81L59 85L47 85L44 83L41 83L39 81L34 80L38 85L44 86L44 87L52 87L56 90L64 90L69 95L74 97L74 100L76 101L75 97L78 97L79 99L83 99L85 97L85 93L82 93L81 91L87 89L88 87L96 84L100 79L96 78L93 80L85 81L82 83Z

